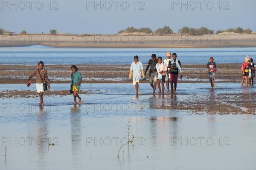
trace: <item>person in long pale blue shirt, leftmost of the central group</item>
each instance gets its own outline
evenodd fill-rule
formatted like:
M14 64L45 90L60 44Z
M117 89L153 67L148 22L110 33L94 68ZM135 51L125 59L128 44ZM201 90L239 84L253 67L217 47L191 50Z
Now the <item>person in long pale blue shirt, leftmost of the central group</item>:
M136 94L139 92L139 82L145 78L143 64L139 61L139 56L134 56L134 62L131 63L129 78L132 78L132 84L135 85Z

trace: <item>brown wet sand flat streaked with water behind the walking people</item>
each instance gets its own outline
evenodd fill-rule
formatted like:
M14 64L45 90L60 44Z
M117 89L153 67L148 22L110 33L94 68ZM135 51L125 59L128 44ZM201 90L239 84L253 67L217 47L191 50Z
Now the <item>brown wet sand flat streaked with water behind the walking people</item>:
M77 65L79 72L83 77L83 83L131 83L129 77L130 66L125 65L102 65L102 64L80 64ZM146 64L143 65L144 70ZM205 64L182 64L183 80L178 79L178 83L202 83L209 82L208 71ZM36 65L0 65L0 80L2 84L19 84L26 83L26 79L37 68ZM47 65L49 80L52 84L55 83L70 83L70 65ZM218 64L215 76L216 82L241 82L241 64ZM146 78L148 77L147 71ZM31 79L35 83L35 79ZM148 83L141 81L141 83Z

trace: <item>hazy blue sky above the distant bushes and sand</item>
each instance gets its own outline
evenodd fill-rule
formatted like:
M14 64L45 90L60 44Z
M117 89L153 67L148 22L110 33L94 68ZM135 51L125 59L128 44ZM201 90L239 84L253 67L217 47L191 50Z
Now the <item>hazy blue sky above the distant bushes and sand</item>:
M165 25L175 33L183 26L205 26L214 31L240 26L256 31L256 0L18 0L11 3L0 0L0 27L17 33L23 29L27 33L57 29L59 33L70 34L116 34L130 26L150 27L155 31Z

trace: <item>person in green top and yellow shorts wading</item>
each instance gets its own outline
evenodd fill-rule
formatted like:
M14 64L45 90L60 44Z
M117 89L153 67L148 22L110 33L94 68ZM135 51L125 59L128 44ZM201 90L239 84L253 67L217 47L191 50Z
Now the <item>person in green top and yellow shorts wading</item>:
M81 104L81 98L77 94L77 92L79 91L79 89L81 87L82 76L81 76L80 72L78 71L78 68L75 65L71 66L71 70L72 70L72 73L71 73L72 87L71 87L71 89L73 90L74 101L76 104L76 98L78 98L79 99L78 104Z

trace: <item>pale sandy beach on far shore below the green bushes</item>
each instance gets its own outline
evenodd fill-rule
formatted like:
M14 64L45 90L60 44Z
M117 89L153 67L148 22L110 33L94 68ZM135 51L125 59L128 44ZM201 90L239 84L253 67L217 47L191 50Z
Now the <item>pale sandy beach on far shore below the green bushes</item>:
M255 47L256 34L219 35L0 35L0 45L77 48L217 48Z

